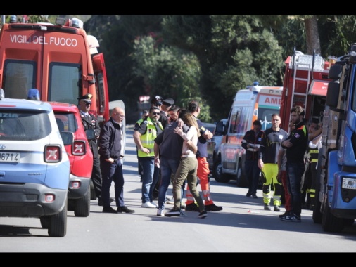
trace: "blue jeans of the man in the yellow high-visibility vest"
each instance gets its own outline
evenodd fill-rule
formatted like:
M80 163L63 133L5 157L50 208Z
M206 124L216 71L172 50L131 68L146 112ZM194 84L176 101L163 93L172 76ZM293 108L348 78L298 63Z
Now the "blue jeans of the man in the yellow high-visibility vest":
M141 200L142 203L152 202L152 192L154 185L153 175L155 173L155 159L153 157L140 157L140 163L142 166L142 189L141 189ZM157 174L158 178L158 174ZM157 183L157 179L155 181Z

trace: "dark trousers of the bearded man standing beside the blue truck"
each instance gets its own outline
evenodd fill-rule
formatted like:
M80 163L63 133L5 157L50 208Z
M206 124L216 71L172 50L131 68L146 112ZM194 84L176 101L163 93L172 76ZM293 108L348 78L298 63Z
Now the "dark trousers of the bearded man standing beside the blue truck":
M288 192L291 195L291 212L300 216L302 212L302 193L300 183L305 171L304 162L286 164Z

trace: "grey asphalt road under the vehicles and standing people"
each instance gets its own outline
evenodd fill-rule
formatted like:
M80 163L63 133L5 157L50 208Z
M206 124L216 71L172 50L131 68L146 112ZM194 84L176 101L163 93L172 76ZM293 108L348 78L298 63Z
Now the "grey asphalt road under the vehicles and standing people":
M265 211L261 190L258 199L248 198L247 189L233 181L210 179L212 199L224 209L208 212L205 219L192 211L181 217L156 216L156 209L141 207L132 126L127 126L124 174L125 201L134 214L103 214L98 200L91 200L87 218L68 211L65 237L49 237L39 219L3 217L0 252L356 252L355 225L343 233L324 233L309 210L303 210L301 223L281 221L283 208ZM165 211L171 208L166 204Z

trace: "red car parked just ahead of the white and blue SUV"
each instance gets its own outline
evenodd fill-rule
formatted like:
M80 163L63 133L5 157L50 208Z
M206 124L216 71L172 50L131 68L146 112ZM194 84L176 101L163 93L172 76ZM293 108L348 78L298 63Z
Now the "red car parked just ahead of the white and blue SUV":
M90 214L91 171L93 169L93 153L88 139L94 137L94 130L84 130L80 111L76 105L49 102L60 132L72 133L71 140L63 140L70 161L70 181L68 185L68 211L75 216L87 217Z

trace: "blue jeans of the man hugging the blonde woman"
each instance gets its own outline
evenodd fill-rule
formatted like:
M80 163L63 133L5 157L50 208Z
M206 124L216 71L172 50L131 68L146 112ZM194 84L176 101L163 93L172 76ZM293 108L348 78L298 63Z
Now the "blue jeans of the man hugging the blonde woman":
M168 186L170 186L171 175L177 172L180 160L167 159L167 157L160 157L160 190L158 193L158 209L165 209L165 196L167 194ZM184 190L184 187L182 187ZM182 196L184 191L182 193Z

